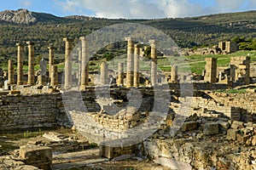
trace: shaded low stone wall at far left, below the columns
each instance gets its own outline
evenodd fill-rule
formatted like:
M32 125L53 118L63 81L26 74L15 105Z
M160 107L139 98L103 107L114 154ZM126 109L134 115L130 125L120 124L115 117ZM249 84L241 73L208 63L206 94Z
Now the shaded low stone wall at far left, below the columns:
M56 103L56 94L0 96L0 128L55 126Z

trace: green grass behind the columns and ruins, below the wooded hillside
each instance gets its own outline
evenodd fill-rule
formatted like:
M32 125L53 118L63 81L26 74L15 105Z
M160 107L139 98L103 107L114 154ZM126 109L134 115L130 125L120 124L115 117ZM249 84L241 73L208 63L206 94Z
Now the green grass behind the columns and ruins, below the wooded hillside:
M58 56L57 58L62 59L61 54L55 54ZM178 57L160 57L158 59L158 67L160 71L171 71L171 64L179 65L178 70L179 72L192 72L196 74L201 74L201 71L205 69L205 58L208 57L215 57L218 58L218 67L224 67L229 65L230 63L230 57L237 57L237 56L250 56L251 62L256 63L256 51L238 51L234 54L209 54L209 55L189 55L189 56L178 56ZM123 57L124 58L124 57ZM125 58L120 58L120 62L125 63ZM99 71L100 70L100 63L105 61L106 59L100 59L100 60L93 60L90 61L90 63L93 63L93 65L90 65L90 71ZM147 59L146 59L147 60ZM141 70L148 70L150 69L150 64L148 64L148 61L141 61L140 69ZM115 61L117 62L117 61ZM116 63L115 63L116 64ZM6 63L3 63L0 65L4 71L8 71L8 65ZM64 62L58 64L58 71L64 71L65 65ZM110 62L109 68L113 69L113 65ZM15 65L16 69L16 65ZM35 71L39 70L39 65L35 65ZM27 72L27 65L24 65L24 72Z

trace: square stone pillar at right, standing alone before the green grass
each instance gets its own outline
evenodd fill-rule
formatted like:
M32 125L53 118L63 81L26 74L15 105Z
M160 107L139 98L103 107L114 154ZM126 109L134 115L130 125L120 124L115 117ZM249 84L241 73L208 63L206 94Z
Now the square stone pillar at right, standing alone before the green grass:
M217 58L206 58L206 75L205 82L217 82Z

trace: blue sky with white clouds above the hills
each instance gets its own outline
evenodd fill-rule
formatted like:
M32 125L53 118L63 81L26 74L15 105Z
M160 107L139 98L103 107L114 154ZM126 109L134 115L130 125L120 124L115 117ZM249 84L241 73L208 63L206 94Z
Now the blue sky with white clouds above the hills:
M256 0L1 0L0 11L26 8L56 16L159 19L256 10Z

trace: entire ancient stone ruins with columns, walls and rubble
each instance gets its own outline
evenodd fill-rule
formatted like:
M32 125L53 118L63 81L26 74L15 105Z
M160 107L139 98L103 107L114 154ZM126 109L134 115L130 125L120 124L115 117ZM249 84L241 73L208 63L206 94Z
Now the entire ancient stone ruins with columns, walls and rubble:
M218 67L216 58L206 58L202 79L196 81L181 74L174 63L168 63L172 65L170 72L159 72L159 41L150 40L149 76L145 78L141 72L145 66L143 45L125 37L126 62L119 60L117 69L112 70L111 63L104 61L96 75L89 67L87 37L79 38L81 45L74 50L77 60L73 59L73 38L63 41L65 71L61 74L54 64L55 47L49 44L48 68L41 59L37 75L35 44L27 42L26 75L24 46L16 44L16 72L12 59L7 75L0 69L2 130L72 128L98 144L99 156L109 160L134 155L142 159L148 156L172 169L256 169L256 94L250 57L232 57L225 67ZM218 48L227 53L236 51L231 42L221 42ZM224 93L230 88L247 88L247 93ZM70 144L70 148L77 149L82 143L60 136L44 134L44 138ZM0 164L9 168L58 167L53 161L54 144L30 142L20 146L18 157L1 156Z

